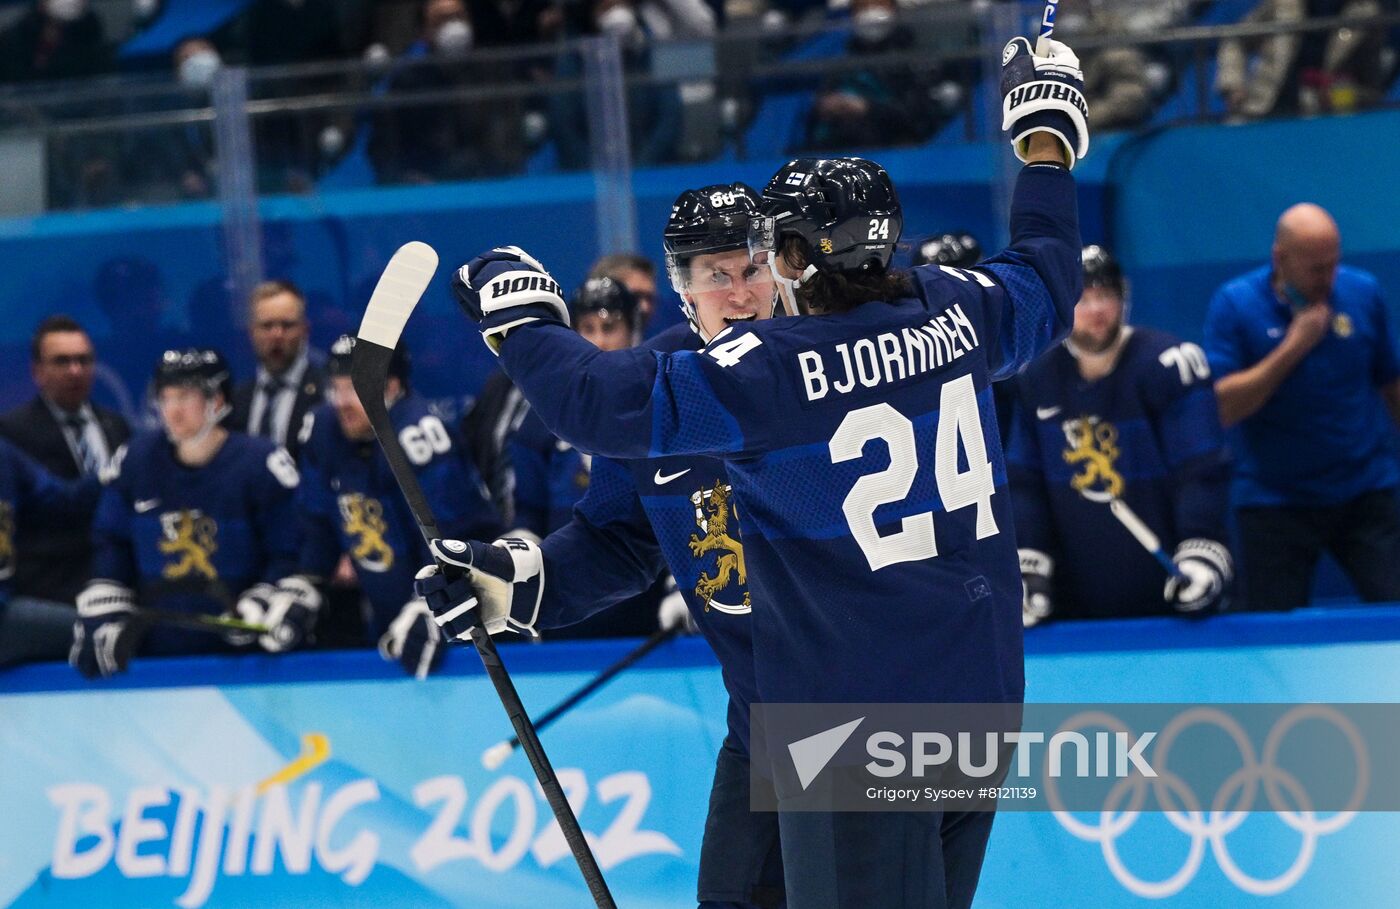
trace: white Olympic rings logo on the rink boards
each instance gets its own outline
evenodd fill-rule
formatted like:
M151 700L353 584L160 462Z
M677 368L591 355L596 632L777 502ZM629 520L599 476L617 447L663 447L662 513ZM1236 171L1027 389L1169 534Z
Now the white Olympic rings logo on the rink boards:
M1298 777L1275 763L1284 738L1303 720L1322 720L1334 726L1351 745L1355 761L1357 779L1347 807L1330 818L1319 818ZM1180 776L1168 770L1172 745L1186 728L1197 724L1222 730L1233 740L1240 754L1240 769L1221 783L1210 808L1203 808L1190 786ZM1102 710L1075 714L1065 720L1057 733L1082 728L1107 728L1133 735L1127 724ZM1086 824L1065 811L1054 777L1049 773L1044 775L1046 798L1061 826L1082 840L1099 843L1103 860L1113 877L1133 894L1149 899L1173 896L1184 889L1205 860L1207 845L1225 877L1246 894L1273 896L1289 889L1312 864L1317 840L1329 833L1336 833L1351 822L1371 784L1371 758L1361 731L1340 712L1323 705L1302 705L1280 717L1264 741L1261 758L1256 756L1254 744L1239 723L1217 707L1193 707L1177 714L1156 737L1155 745L1151 765L1156 770L1156 777L1149 779L1134 773L1119 780L1105 798L1098 824ZM1225 843L1225 838L1249 817L1260 783L1263 783L1273 812L1302 836L1298 856L1292 864L1273 878L1256 878L1247 874L1231 856ZM1142 880L1128 870L1117 846L1119 838L1126 835L1142 814L1148 790L1156 798L1166 821L1191 838L1182 867L1169 877L1156 881Z

